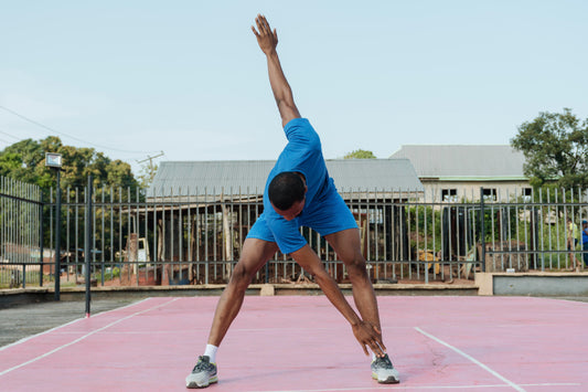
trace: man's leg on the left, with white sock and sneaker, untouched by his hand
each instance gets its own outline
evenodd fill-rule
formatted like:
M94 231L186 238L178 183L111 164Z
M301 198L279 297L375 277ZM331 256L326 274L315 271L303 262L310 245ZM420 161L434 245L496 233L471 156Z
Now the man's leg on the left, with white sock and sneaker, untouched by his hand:
M239 312L245 290L249 286L253 276L277 250L276 243L257 239L246 239L243 243L240 258L216 305L206 352L199 358L196 365L185 378L186 388L204 388L218 381L216 363L213 363L215 360L214 358L211 359L207 352L211 350L213 357L215 357L216 348L223 341L228 327Z

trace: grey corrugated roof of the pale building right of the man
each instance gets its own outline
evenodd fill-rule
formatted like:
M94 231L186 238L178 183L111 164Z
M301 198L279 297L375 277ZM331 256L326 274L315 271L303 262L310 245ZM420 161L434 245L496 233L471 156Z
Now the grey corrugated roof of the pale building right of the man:
M409 159L419 178L526 179L525 157L509 145L403 146L391 158Z

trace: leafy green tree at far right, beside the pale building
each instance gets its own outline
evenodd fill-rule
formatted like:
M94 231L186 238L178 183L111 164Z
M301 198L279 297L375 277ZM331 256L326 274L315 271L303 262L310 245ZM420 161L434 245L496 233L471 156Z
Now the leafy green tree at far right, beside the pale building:
M511 145L524 153L523 170L533 186L546 181L563 188L588 186L588 119L580 125L570 109L539 113L518 127Z

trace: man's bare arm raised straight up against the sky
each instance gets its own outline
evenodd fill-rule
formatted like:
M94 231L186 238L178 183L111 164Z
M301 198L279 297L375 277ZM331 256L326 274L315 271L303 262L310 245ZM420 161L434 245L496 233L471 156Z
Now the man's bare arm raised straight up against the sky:
M257 38L257 43L259 44L261 52L264 52L267 57L269 84L271 85L274 98L276 98L276 104L278 104L278 109L280 110L281 125L286 126L286 124L292 118L299 118L300 113L296 107L292 89L290 88L286 76L284 76L280 60L278 59L278 52L276 52L278 34L276 29L271 31L266 17L258 14L255 22L257 23L257 30L253 25L252 30Z

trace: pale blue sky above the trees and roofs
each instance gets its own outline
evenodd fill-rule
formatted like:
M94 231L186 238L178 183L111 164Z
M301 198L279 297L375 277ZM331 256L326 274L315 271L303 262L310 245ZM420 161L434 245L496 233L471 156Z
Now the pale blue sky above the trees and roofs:
M4 0L1 10L0 149L55 135L135 169L161 150L157 161L277 158L286 138L250 31L258 12L278 30L325 158L505 145L539 112L588 117L584 0Z

